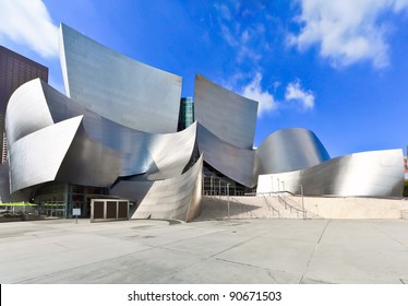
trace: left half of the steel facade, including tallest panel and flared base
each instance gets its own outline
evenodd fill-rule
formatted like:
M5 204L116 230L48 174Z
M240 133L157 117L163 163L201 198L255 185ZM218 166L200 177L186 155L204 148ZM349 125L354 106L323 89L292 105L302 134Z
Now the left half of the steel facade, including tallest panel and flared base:
M10 98L10 192L31 197L56 181L109 188L111 196L133 192L132 200L152 204L149 199L161 195L154 190L171 189L166 200L173 208L160 217L191 220L200 211L202 160L193 163L196 123L176 132L181 78L64 25L60 38L70 97L36 79ZM131 190L119 188L128 181ZM155 211L151 204L140 208Z

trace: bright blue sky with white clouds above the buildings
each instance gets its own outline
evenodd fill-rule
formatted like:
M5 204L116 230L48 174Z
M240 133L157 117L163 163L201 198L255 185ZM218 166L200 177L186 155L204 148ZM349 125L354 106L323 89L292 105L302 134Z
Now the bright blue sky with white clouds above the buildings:
M301 127L332 157L408 144L408 0L0 0L0 44L63 91L63 22L135 60L260 102L255 146Z

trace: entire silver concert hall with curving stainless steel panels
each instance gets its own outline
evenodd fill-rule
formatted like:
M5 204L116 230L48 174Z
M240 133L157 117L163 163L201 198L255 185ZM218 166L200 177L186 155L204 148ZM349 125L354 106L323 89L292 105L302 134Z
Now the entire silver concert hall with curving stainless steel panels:
M278 130L253 148L257 102L201 74L195 120L178 129L181 76L120 55L61 25L67 95L39 79L5 115L8 179L1 199L65 203L125 199L129 217L191 221L202 195L285 190L309 196L400 197L403 151L331 158L309 130Z

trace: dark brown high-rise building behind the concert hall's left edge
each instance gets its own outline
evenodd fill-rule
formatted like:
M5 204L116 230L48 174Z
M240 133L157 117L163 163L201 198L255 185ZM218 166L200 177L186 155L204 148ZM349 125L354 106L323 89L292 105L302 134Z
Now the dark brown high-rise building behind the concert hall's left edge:
M27 81L48 82L48 68L0 46L0 144L1 163L7 160L5 109L13 92Z

